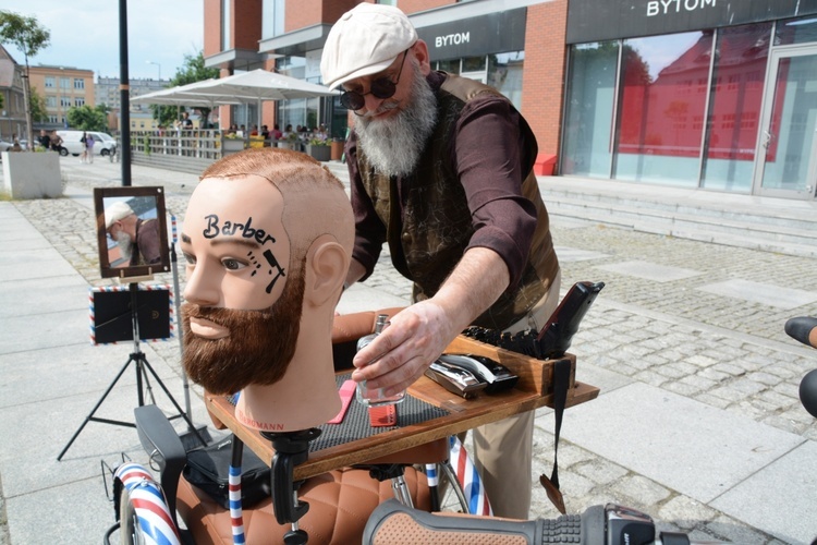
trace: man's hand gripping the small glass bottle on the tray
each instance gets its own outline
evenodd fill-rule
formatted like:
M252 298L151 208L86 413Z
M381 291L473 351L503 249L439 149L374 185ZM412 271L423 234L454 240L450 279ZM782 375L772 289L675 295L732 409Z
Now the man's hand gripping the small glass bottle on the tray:
M440 356L460 332L434 300L420 301L395 314L383 331L354 358L355 382L367 380L383 396L405 390Z

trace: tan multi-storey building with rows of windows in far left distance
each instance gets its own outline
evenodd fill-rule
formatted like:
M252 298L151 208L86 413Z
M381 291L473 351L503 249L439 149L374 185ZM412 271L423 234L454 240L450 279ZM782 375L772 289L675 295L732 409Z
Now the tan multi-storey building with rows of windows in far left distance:
M74 66L39 64L28 68L29 83L42 97L48 125L68 126L68 110L95 106L94 72Z

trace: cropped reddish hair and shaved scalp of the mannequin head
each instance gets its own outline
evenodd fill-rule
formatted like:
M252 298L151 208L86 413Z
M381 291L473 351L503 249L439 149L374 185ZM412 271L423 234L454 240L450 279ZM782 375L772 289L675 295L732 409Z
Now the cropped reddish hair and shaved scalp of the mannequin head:
M251 174L266 178L281 192L281 219L297 258L326 233L333 234L343 247L351 250L354 219L349 197L341 181L319 161L291 149L253 148L214 162L200 179ZM316 192L325 196L337 193L337 198L315 198Z

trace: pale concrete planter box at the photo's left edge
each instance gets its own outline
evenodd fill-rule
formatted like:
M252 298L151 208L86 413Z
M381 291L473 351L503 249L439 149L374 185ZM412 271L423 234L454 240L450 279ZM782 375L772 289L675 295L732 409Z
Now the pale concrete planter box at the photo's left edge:
M11 198L62 196L60 155L50 152L3 152L3 190Z

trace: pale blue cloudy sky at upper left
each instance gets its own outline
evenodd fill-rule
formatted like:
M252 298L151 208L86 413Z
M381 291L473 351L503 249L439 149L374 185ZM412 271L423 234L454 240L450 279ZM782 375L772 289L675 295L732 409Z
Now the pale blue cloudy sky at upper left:
M2 0L0 10L34 16L51 33L51 44L31 65L92 70L95 78L119 77L118 0ZM3 44L19 64L23 55ZM173 77L184 56L204 48L203 0L130 0L127 73L131 78ZM150 64L151 61L157 64Z

